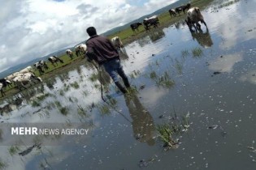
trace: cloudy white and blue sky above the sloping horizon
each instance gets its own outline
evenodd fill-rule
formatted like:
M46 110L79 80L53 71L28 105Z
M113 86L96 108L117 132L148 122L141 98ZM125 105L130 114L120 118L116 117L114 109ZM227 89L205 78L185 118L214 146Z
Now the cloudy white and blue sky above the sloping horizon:
M122 26L178 0L0 0L0 72Z

